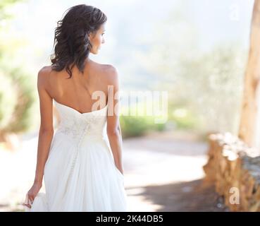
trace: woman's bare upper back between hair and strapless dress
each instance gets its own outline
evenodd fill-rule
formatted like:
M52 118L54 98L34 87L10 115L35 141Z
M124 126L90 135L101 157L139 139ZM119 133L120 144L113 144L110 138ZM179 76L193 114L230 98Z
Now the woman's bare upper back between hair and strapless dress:
M46 90L49 95L62 105L80 113L92 112L106 106L111 65L87 61L84 73L75 66L69 78L65 69L53 71L51 66L44 67L49 71ZM68 79L69 78L69 79ZM99 92L97 92L99 91ZM95 93L97 92L97 93ZM96 95L93 95L93 94ZM95 107L99 102L99 108Z

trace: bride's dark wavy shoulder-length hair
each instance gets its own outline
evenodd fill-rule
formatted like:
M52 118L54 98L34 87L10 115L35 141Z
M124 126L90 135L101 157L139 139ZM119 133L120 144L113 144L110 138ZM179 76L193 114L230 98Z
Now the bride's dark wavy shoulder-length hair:
M51 69L62 71L66 68L69 78L76 65L81 73L85 68L85 59L89 56L92 44L88 35L94 35L100 26L106 23L106 15L94 6L80 4L68 8L62 20L58 20L54 36L54 54L51 54ZM54 47L54 46L53 46Z

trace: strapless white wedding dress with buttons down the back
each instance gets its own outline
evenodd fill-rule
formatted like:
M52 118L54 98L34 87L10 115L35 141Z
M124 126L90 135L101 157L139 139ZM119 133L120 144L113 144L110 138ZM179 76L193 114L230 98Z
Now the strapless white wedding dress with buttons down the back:
M61 116L44 167L35 211L128 211L123 174L106 139L108 105L80 113L54 100Z

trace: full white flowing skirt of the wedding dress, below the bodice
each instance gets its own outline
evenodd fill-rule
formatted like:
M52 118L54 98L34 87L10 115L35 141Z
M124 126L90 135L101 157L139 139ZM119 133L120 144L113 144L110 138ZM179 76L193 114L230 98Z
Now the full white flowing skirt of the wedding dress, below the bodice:
M82 143L57 133L44 167L45 193L26 212L128 211L124 176L104 138Z

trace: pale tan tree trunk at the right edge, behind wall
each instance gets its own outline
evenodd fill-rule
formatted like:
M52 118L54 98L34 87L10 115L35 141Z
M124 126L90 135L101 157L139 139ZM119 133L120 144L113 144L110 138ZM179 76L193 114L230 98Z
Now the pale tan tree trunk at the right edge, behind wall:
M260 77L260 0L254 1L252 14L250 49L247 69L244 76L244 94L242 99L242 112L238 132L248 145L258 143L259 133L259 77ZM260 138L259 138L260 140Z

